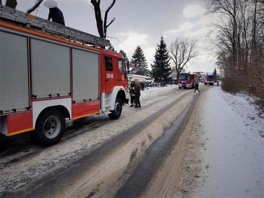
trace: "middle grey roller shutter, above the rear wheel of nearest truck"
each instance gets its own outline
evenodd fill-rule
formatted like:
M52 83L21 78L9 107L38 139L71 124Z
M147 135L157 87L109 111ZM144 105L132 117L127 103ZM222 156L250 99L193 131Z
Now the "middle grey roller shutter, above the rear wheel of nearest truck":
M32 84L37 98L70 92L70 48L32 39Z

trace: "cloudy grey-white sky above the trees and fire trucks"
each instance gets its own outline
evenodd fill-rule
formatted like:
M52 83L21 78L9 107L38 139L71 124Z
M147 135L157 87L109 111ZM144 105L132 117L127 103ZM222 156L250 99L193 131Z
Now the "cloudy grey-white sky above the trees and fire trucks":
M45 0L44 0L45 1ZM3 4L5 0L2 0ZM34 0L17 0L17 9L26 11ZM64 14L65 25L90 34L98 35L94 10L90 0L57 0L58 7ZM112 0L101 0L102 10L110 5ZM108 22L116 17L110 25L107 35L117 37L112 45L116 50L124 50L131 58L137 45L140 45L146 55L148 65L153 62L155 47L161 35L169 43L179 35L198 39L199 56L188 66L188 71L212 72L213 57L205 50L204 37L210 21L203 12L204 0L116 0L108 13ZM47 18L49 9L40 9L37 16ZM35 13L36 14L36 13ZM102 12L104 15L104 12Z

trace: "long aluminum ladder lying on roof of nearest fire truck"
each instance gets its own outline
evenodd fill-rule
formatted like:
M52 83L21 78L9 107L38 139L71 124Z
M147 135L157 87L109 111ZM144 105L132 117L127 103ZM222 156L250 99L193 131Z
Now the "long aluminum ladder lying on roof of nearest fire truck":
M61 25L19 10L0 5L0 20L24 24L27 28L38 28L42 33L51 34L73 42L97 46L111 46L110 41L65 25Z

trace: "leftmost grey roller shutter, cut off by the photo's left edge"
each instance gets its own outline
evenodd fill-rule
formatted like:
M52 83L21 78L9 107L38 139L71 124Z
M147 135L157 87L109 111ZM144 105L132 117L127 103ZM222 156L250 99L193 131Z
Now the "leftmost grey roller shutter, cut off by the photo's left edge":
M27 38L0 31L0 110L29 106Z

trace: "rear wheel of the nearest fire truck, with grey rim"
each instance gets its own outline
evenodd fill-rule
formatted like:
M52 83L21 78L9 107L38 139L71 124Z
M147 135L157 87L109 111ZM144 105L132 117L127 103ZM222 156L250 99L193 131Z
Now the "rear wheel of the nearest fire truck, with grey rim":
M65 132L65 116L54 108L43 111L35 126L36 139L42 146L57 144Z

